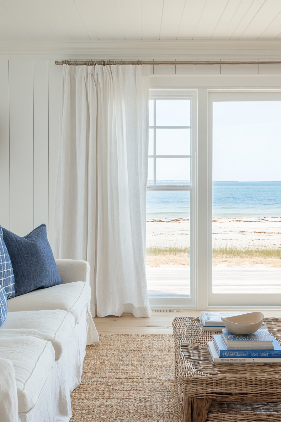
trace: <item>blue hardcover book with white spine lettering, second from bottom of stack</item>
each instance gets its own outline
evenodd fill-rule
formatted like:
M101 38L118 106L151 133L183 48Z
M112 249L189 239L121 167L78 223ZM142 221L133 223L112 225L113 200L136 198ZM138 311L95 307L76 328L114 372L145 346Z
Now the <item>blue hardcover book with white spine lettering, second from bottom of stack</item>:
M273 337L274 350L227 350L222 334L213 334L214 345L219 357L279 357L281 358L281 346Z

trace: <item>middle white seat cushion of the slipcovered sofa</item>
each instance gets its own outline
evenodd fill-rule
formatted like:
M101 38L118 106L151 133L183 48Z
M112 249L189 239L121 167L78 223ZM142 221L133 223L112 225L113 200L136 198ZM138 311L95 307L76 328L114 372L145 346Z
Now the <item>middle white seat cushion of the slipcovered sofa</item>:
M56 360L67 345L75 328L75 317L60 309L52 311L9 312L5 323L0 327L0 341L4 336L14 335L42 338L51 341Z

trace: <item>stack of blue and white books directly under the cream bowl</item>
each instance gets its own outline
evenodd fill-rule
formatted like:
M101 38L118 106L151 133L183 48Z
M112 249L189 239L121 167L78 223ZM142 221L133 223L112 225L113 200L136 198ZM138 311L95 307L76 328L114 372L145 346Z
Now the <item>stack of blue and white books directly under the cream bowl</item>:
M222 328L222 334L213 338L208 346L214 363L281 363L281 346L266 328L249 335Z

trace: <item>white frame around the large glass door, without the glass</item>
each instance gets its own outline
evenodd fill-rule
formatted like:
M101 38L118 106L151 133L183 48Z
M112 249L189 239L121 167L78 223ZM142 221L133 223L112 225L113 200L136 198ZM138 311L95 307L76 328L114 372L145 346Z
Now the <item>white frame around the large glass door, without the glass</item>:
M213 101L281 101L281 92L271 90L208 92L208 298L207 309L280 308L281 294L227 294L212 292L212 103ZM206 303L206 295L202 303ZM206 308L206 306L205 306ZM203 309L203 308L201 308Z

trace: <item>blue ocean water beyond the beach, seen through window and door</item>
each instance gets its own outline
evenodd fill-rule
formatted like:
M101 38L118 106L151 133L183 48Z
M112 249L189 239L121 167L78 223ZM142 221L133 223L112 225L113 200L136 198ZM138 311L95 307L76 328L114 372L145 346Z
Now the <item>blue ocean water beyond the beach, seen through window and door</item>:
M189 191L147 191L147 219L189 215ZM214 181L213 217L281 217L281 181Z

